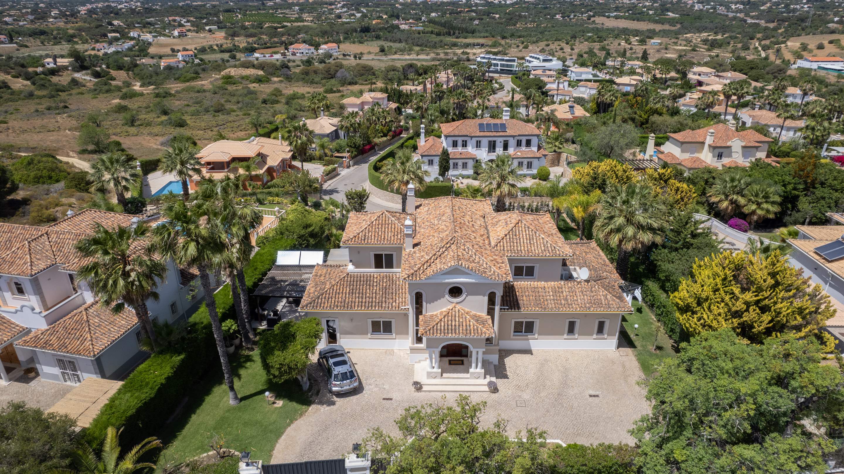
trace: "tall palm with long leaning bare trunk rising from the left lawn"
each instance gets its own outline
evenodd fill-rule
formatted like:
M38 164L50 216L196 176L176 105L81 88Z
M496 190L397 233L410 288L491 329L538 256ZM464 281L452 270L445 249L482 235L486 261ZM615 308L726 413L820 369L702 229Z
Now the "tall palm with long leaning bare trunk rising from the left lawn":
M219 262L220 254L226 251L226 223L221 222L218 216L211 212L210 206L187 207L184 201L165 203L161 216L164 220L153 229L155 250L161 256L173 259L178 265L197 267L225 385L229 387L229 403L237 405L241 399L235 391L235 378L231 373L223 327L220 326L217 313L217 301L214 299L211 277L208 275Z

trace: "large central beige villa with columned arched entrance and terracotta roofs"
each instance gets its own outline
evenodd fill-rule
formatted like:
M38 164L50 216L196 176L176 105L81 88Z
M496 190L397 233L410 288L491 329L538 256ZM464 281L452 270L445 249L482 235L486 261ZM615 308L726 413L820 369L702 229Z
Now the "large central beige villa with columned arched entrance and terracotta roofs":
M500 350L618 348L632 296L593 241L486 199L411 189L408 211L351 213L348 263L313 270L299 310L322 320L321 344L407 351L423 390L461 391L485 390Z

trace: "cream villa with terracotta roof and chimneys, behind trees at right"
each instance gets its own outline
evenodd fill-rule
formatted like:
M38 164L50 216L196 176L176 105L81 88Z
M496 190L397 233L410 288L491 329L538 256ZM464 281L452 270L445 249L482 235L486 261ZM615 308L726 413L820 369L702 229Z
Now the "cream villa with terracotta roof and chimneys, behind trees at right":
M668 142L654 146L654 136L648 139L646 158L657 164L676 164L681 170L748 166L755 159L766 159L771 138L754 130L736 132L735 121L698 130L668 133ZM771 159L766 159L770 161Z

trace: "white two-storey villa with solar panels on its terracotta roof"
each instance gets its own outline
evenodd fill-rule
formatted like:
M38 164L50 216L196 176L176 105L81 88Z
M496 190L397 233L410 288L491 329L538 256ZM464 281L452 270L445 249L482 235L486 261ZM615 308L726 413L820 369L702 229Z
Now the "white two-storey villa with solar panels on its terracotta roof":
M425 137L421 126L417 142L416 159L422 160L430 172L427 180L439 175L440 153L446 148L449 154L448 175L472 175L475 163L495 159L498 154L510 154L519 175L531 176L545 164L548 155L539 145L537 127L510 118L510 109L504 109L503 119L466 119L441 123L442 137Z

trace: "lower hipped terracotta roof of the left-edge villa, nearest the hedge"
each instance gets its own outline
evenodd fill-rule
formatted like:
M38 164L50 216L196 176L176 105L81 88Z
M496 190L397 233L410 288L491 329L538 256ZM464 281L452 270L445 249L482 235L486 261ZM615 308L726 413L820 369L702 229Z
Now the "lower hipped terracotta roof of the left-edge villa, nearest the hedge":
M95 358L137 324L133 310L114 314L98 299L49 327L33 331L15 345Z

